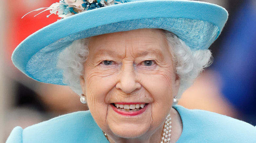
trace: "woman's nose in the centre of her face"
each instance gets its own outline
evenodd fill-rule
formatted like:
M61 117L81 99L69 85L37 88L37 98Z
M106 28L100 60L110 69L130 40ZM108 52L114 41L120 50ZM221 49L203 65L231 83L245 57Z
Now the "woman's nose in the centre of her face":
M136 71L133 64L123 64L122 69L118 75L117 89L121 89L123 92L129 94L141 87L136 76Z

